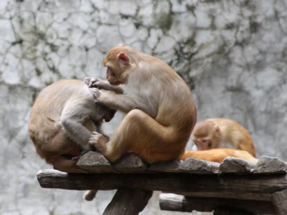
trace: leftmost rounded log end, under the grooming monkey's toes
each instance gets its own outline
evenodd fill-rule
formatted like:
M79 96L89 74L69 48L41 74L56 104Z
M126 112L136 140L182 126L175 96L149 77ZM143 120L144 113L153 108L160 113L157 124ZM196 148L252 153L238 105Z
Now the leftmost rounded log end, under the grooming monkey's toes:
M89 151L80 157L77 167L94 173L115 172L109 160L96 151Z

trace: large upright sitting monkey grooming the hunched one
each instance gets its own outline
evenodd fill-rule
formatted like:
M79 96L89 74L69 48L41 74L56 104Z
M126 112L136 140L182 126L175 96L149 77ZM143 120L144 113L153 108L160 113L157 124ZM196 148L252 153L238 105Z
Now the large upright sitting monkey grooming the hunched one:
M162 60L130 46L112 48L103 64L108 82L124 84L124 94L101 91L96 100L128 114L107 144L96 132L89 143L112 162L128 151L147 162L180 159L196 121L193 97L182 78Z

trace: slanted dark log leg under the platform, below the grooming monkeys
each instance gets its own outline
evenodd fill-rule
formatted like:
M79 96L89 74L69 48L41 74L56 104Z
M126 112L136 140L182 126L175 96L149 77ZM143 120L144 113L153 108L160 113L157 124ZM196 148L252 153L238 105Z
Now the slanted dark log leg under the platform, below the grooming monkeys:
M135 215L148 204L153 191L139 189L118 189L103 215Z

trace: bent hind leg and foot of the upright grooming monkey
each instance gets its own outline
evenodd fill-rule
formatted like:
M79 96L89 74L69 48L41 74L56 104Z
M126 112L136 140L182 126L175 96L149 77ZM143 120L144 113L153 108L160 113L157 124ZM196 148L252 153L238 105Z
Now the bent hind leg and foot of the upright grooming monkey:
M107 145L103 138L98 138L96 149L111 162L119 160L129 151L139 154L148 162L155 162L179 158L189 133L179 133L173 127L164 127L143 111L134 109L123 119Z

